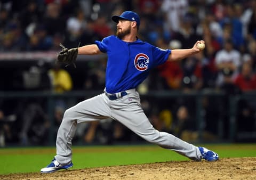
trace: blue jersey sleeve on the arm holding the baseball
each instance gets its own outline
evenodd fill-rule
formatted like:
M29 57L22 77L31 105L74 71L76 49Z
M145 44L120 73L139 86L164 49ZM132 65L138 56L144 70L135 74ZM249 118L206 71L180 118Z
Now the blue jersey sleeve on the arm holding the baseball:
M154 57L156 66L165 63L170 53L171 53L171 50L163 50L162 48L159 48L159 47L153 47L153 57Z

